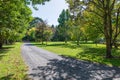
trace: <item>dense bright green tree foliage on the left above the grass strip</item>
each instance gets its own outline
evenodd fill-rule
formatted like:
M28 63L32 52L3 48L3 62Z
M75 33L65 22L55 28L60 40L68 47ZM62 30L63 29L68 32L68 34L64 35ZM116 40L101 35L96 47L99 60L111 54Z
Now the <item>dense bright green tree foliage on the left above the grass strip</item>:
M21 40L31 19L31 10L23 1L1 1L0 43Z

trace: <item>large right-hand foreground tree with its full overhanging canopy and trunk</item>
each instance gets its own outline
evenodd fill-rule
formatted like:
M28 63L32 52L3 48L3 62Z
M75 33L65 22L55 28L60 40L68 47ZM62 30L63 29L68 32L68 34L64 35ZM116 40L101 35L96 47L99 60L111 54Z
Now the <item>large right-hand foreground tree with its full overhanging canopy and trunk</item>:
M92 15L88 17L92 20L90 26L92 24L93 27L97 27L97 30L103 33L106 40L106 58L111 58L112 46L120 34L119 0L66 0L66 2L69 4L71 13L76 15L75 17L79 17L81 14L85 17L84 12ZM96 20L93 21L94 19Z

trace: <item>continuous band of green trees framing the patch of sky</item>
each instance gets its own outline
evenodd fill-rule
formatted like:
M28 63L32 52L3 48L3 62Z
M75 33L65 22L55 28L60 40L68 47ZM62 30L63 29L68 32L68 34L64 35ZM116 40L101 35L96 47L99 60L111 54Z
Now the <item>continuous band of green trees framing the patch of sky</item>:
M0 1L0 48L3 43L27 39L30 41L94 41L106 44L106 58L112 58L112 48L118 48L120 34L119 0L66 0L69 9L58 18L59 25L50 26L41 18L31 17L27 5L49 0ZM24 37L24 38L23 38Z

